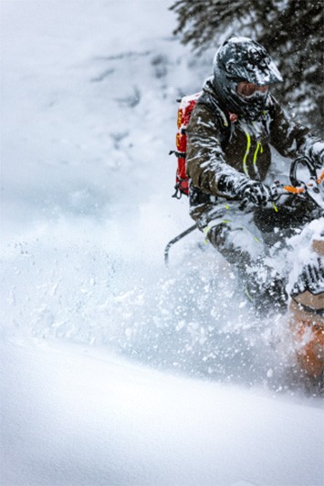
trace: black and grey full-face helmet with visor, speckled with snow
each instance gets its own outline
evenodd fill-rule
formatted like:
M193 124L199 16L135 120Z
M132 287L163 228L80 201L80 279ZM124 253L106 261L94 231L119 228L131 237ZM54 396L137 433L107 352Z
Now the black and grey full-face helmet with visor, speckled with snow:
M264 47L248 37L232 36L215 54L214 88L230 111L247 120L259 119L267 106L267 88L244 97L237 93L237 86L243 81L268 87L282 78Z

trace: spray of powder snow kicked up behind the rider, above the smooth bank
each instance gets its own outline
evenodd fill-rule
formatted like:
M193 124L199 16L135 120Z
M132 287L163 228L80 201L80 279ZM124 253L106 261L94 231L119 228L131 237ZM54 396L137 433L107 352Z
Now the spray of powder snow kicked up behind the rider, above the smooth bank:
M107 346L152 367L278 388L285 371L273 348L279 321L255 317L235 273L200 233L172 249L167 269L162 258L127 255L122 236L116 251L98 228L92 238L93 227L82 232L77 243L61 224L53 228L55 243L43 236L8 245L6 339Z

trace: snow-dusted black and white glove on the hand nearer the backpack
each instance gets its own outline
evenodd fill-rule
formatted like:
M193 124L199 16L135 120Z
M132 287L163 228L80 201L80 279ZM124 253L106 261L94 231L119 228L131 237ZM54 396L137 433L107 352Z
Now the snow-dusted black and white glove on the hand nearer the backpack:
M270 188L266 184L247 179L246 176L241 174L237 178L222 175L218 181L217 189L225 196L251 202L256 206L266 205L271 196Z

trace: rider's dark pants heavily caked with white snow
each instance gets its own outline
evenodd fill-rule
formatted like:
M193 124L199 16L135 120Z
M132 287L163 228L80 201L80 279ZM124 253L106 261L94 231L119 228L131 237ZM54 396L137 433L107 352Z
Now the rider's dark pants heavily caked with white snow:
M242 211L239 202L219 199L196 221L206 239L235 266L256 309L268 315L287 309L289 266L278 262L284 261L289 238L320 216L312 202L297 198L253 211Z

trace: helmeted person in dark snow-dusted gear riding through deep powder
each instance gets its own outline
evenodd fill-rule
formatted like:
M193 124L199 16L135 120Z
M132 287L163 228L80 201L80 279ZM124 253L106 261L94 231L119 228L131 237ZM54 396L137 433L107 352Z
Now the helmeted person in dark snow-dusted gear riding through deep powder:
M280 81L264 47L230 37L215 54L214 76L205 81L187 129L190 214L235 264L249 298L264 309L274 302L284 309L287 303L286 269L274 268L268 257L285 236L319 216L315 205L301 206L298 198L279 210L265 207L272 196L264 182L270 145L285 158L306 155L316 169L324 166L324 142L289 119L270 94L270 86Z

